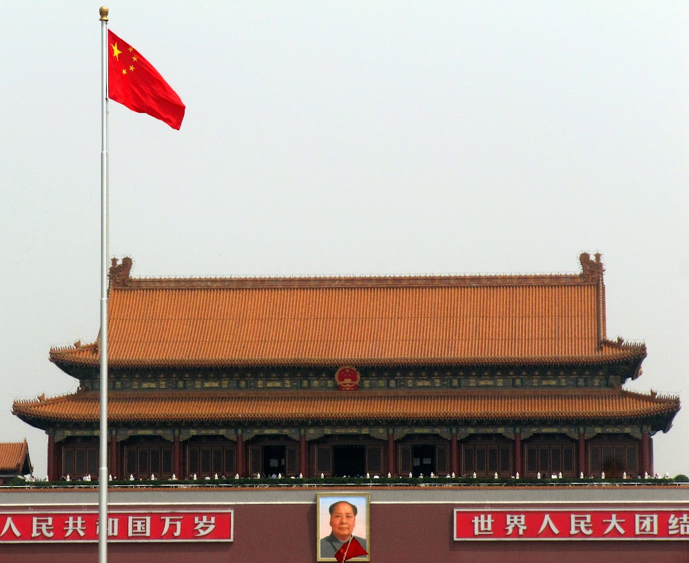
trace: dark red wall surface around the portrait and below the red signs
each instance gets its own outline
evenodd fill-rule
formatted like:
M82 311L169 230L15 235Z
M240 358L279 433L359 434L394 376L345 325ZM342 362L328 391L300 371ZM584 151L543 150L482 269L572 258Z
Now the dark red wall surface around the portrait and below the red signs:
M234 543L108 544L108 561L316 561L316 504L238 504ZM372 563L689 563L683 541L455 542L451 504L371 504ZM1 544L1 563L94 563L97 544Z

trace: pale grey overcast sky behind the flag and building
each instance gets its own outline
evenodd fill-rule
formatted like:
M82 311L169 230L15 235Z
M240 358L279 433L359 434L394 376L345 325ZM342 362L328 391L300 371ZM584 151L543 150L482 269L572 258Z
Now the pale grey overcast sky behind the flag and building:
M110 254L134 276L578 273L603 254L628 387L689 401L689 3L112 1L187 105L110 103ZM0 441L94 341L98 3L3 3ZM687 403L689 404L689 403ZM689 474L689 408L654 440Z

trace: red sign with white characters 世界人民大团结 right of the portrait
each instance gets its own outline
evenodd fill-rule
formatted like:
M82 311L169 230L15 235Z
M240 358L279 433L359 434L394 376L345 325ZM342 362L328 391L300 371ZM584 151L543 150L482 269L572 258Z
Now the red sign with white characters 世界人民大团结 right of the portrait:
M689 540L689 509L455 509L460 540Z

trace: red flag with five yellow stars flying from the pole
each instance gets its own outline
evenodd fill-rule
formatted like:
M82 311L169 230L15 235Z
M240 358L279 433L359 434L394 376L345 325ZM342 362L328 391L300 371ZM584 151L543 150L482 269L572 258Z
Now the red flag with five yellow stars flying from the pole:
M107 32L108 98L140 114L149 114L173 129L182 126L185 105L153 65L116 36Z

